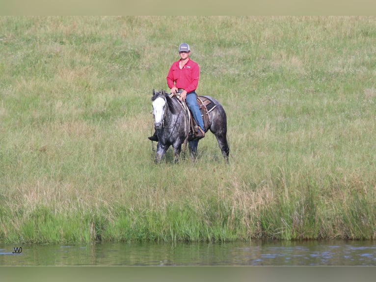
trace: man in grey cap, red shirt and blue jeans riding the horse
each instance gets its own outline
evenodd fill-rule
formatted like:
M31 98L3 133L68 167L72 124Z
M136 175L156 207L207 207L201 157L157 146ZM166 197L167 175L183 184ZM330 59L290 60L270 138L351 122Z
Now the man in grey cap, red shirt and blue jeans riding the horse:
M200 109L197 106L197 94L195 92L200 78L200 66L189 58L190 49L187 43L179 46L180 59L174 62L167 74L167 85L172 94L180 93L180 101L186 101L188 108L196 120L198 126L195 132L195 139L205 137L204 121ZM157 133L148 137L151 141L158 141Z

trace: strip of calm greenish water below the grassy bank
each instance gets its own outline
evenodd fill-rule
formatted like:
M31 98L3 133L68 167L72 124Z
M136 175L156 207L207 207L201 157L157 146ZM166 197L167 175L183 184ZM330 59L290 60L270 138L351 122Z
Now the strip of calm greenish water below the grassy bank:
M0 245L0 265L360 266L376 265L376 242L333 240L220 244Z

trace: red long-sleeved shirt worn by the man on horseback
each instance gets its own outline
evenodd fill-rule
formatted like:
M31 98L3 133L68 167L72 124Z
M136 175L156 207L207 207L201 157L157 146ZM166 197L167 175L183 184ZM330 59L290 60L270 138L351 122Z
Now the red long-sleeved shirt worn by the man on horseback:
M200 78L200 66L190 58L182 69L179 68L180 60L174 62L167 74L167 85L182 88L187 93L196 90Z

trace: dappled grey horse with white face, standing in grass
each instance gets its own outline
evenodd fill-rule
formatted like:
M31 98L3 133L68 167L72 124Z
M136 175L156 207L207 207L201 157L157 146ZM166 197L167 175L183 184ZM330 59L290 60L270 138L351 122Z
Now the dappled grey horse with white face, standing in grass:
M210 100L211 110L204 116L205 132L210 130L218 142L222 156L228 164L230 149L227 142L227 117L222 105L210 96L198 96L199 99ZM159 163L167 149L174 148L175 162L180 159L182 144L188 141L188 147L192 160L196 159L199 140L188 140L189 115L184 110L185 102L177 97L170 97L165 90L153 89L152 106L154 115L154 127L158 136L157 154L155 162Z

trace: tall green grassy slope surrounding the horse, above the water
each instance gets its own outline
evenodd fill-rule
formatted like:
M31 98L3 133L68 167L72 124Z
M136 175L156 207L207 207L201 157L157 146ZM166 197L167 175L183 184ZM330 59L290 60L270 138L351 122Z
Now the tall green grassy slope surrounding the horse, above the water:
M181 42L229 166L211 134L153 162ZM374 17L0 17L0 242L374 239L375 43Z

